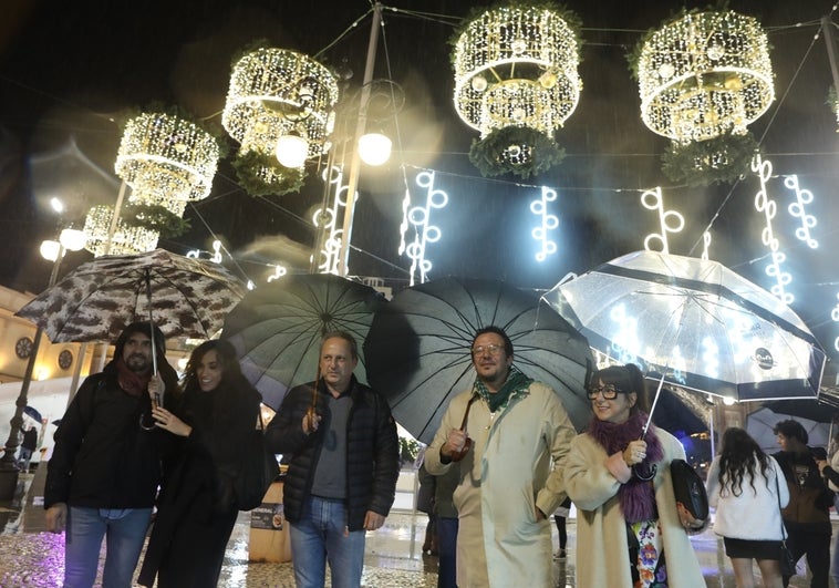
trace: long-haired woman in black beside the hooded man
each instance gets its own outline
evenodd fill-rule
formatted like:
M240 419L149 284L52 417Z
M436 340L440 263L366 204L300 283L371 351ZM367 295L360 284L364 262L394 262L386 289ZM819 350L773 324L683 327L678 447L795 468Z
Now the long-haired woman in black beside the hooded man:
M193 350L176 402L154 409L157 426L172 439L141 586L152 586L155 577L159 588L218 584L239 514L232 482L261 400L242 375L234 347L210 340Z

